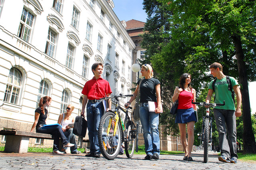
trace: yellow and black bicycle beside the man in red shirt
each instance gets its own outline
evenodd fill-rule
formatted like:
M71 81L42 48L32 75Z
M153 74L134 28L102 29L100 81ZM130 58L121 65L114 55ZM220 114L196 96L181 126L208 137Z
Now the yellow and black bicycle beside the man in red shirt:
M124 142L124 149L126 156L132 158L134 154L136 130L135 125L128 115L127 109L123 109L120 106L120 101L118 98L131 97L133 95L118 95L111 97L104 97L100 100L115 99L116 107L114 111L109 110L104 113L100 119L100 125L98 130L98 141L100 146L100 151L104 158L108 160L113 160L116 158L120 151L121 144ZM125 113L124 123L120 117L120 111Z

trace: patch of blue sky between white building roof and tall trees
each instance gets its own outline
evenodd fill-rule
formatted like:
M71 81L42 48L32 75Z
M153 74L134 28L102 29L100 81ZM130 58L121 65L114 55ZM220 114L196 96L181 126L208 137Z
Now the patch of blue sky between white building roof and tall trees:
M143 10L143 0L113 0L113 8L116 16L120 21L138 20L146 22L147 14Z

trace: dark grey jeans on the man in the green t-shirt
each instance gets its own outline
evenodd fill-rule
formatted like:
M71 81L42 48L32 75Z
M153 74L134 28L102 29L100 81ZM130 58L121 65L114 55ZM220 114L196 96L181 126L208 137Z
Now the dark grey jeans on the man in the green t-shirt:
M213 109L213 112L219 132L220 154L237 159L236 112L224 109Z

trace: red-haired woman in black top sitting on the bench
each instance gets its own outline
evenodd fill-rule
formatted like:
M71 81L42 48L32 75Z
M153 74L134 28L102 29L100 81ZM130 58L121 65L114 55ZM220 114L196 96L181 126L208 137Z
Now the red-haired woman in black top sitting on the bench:
M54 135L54 142L53 142L53 151L54 154L63 154L58 150L59 148L59 138L63 142L64 147L71 147L74 144L68 143L66 136L64 135L62 128L60 125L55 126L48 126L46 125L46 119L48 115L48 110L46 107L49 107L52 103L52 99L49 96L42 97L39 101L39 107L35 111L35 122L32 125L30 132L34 131L36 127L36 132L38 133L46 133L46 134L53 134Z

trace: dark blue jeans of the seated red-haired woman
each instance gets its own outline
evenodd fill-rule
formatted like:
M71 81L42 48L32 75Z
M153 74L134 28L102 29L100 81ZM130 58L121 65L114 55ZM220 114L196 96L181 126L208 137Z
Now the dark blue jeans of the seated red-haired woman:
M56 151L58 150L59 139L62 141L63 144L68 144L68 140L67 140L66 136L64 135L60 125L39 127L36 129L36 132L54 135L53 150L56 150Z

